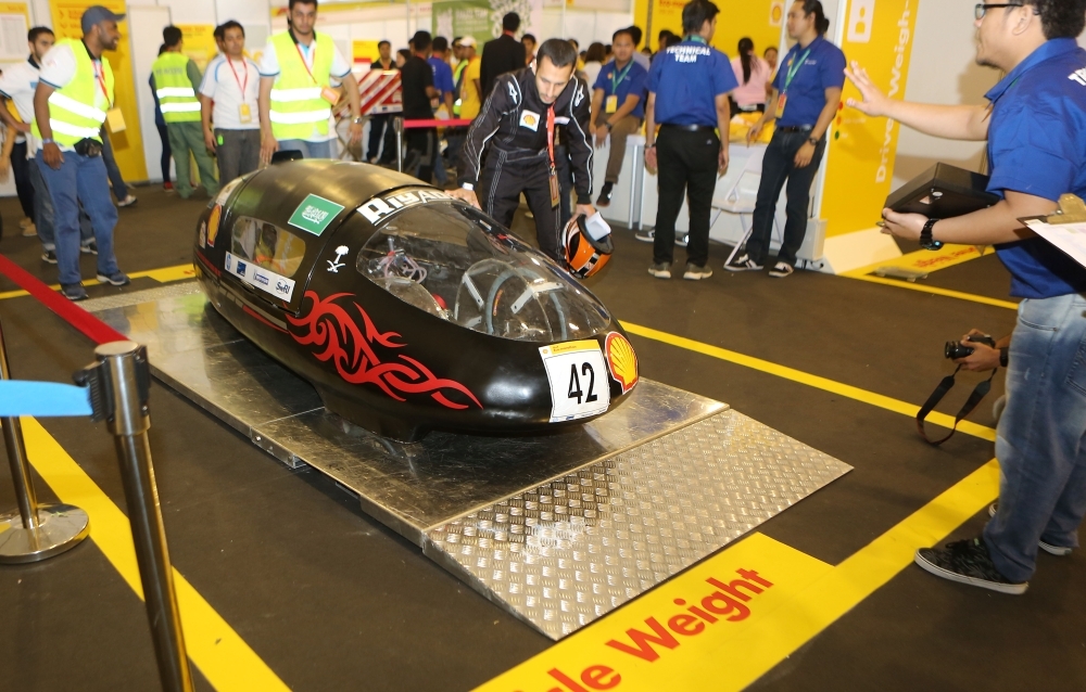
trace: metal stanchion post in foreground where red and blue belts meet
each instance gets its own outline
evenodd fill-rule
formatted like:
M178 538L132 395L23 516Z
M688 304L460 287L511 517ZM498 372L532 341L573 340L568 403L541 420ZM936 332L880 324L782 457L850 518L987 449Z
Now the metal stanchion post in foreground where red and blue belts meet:
M94 356L98 362L77 373L76 381L90 385L96 417L106 420L116 441L162 688L167 692L191 692L192 674L147 436L151 427L147 348L132 342L112 342L96 348Z

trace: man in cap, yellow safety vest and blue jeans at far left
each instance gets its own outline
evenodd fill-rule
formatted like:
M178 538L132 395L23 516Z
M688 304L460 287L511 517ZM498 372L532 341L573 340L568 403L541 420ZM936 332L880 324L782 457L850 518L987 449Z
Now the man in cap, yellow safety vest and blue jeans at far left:
M41 60L34 92L31 133L41 149L36 158L53 203L61 293L83 300L79 274L79 205L90 216L98 246L98 280L128 283L113 255L117 208L102 162L102 124L113 108L113 71L102 52L115 50L121 31L114 14L101 5L83 13L83 40L58 41ZM114 114L119 119L119 112ZM114 120L111 120L111 123Z

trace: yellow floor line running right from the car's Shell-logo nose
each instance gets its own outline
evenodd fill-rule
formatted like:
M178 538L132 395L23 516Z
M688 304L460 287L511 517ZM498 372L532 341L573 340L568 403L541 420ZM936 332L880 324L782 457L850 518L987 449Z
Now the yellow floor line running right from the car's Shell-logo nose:
M679 348L685 348L705 356L710 356L712 358L719 358L720 360L727 360L728 362L735 363L737 366L744 366L746 368L752 368L754 370L759 370L761 372L776 375L778 377L784 377L785 380L792 380L793 382L798 382L800 384L806 384L818 389L823 389L843 397L848 397L849 399L855 399L857 401L862 401L864 403L870 403L871 406L876 406L887 411L894 411L895 413L900 413L902 415L908 415L909 418L917 418L917 412L920 407L914 403L909 403L908 401L901 401L900 399L894 399L892 397L883 396L881 394L875 394L874 392L868 392L867 389L861 389L860 387L854 387L851 385L843 384L834 380L829 380L826 377L820 377L819 375L812 375L809 372L804 372L801 370L796 370L794 368L787 368L785 366L779 366L774 362L768 360L762 360L761 358L754 358L752 356L744 356L743 354L736 353L734 350L728 350L727 348L720 348L719 346L711 346L709 344L703 344L702 342L695 342L691 338L685 338L683 336L675 336L674 334L669 334L667 332L660 332L658 330L649 329L647 326L641 326L640 324L631 324L630 322L622 322L622 326L630 334L635 334L637 336L644 336L645 338L652 338L654 341L662 342L671 346L678 346ZM942 425L943 427L954 426L954 417L947 415L946 413L939 413L937 411L932 411L927 417L930 423L936 425ZM987 427L985 425L978 425L970 421L962 421L958 425L958 430L967 435L972 435L974 437L980 437L982 439L987 439L995 441L996 431Z

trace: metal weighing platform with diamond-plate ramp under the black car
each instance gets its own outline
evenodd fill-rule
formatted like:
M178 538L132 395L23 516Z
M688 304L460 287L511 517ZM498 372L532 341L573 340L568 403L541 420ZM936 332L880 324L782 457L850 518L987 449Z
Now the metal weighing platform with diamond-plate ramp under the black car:
M146 344L155 377L552 639L707 558L851 470L727 405L642 380L548 435L378 437L323 407L195 282L81 304ZM227 462L228 460L219 460Z

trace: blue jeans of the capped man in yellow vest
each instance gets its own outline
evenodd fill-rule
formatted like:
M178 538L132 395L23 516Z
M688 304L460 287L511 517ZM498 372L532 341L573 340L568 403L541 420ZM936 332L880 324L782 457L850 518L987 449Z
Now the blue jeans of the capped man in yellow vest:
M121 271L113 256L113 228L117 207L110 200L110 183L101 156L80 156L64 152L64 163L54 170L39 151L38 170L49 188L53 203L53 231L56 235L56 265L62 284L83 281L79 273L79 205L90 217L98 244L98 273L112 277Z

